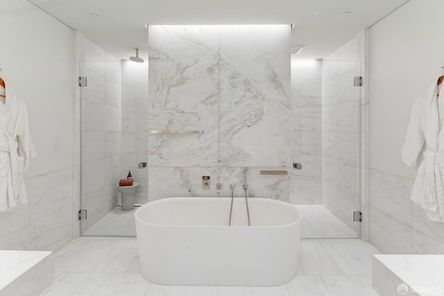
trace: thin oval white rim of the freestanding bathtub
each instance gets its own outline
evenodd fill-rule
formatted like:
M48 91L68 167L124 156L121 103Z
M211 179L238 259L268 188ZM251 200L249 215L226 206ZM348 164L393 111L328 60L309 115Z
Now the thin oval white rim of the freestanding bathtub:
M153 224L153 223L148 223L144 220L141 220L138 216L138 212L140 209L144 208L144 207L149 207L152 206L153 203L162 203L162 202L171 202L171 199L173 200L181 200L181 199L194 199L194 198L201 198L201 199L207 199L207 198L230 198L230 196L221 196L221 197L216 197L216 196L176 196L176 197L172 197L172 198L162 198L160 200L153 200L152 202L146 202L146 204L143 204L142 206L139 207L139 209L137 209L134 213L134 218L135 218L135 222L136 223L142 223L143 225L147 225L147 226L152 226L152 227L192 227L192 228L206 228L206 227L220 227L220 228L236 228L236 229L241 229L241 228L280 228L280 227L290 227L292 225L296 225L298 223L300 223L300 221L302 220L302 211L300 211L300 209L298 209L297 204L290 204L288 202L283 202L282 200L273 200L271 198L250 198L250 199L260 199L260 200L270 200L272 202L278 202L278 203L284 203L285 207L291 207L293 210L296 210L297 214L299 215L299 218L297 218L295 221L291 222L291 223L287 223L284 225L271 225L271 226L267 226L267 225L239 225L239 226L229 226L229 225L162 225L162 224ZM242 197L237 197L237 198L242 198Z

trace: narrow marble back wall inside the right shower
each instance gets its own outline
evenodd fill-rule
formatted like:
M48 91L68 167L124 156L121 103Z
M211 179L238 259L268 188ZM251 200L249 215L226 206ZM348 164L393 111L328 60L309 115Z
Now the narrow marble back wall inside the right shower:
M302 164L294 170L295 204L322 202L322 61L291 62L293 99L293 162Z

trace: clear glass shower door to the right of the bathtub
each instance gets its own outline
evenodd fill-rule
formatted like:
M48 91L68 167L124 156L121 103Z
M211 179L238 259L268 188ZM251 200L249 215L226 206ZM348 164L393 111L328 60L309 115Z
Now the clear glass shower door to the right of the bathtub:
M293 203L302 238L359 238L361 76L357 60L292 63L295 102Z

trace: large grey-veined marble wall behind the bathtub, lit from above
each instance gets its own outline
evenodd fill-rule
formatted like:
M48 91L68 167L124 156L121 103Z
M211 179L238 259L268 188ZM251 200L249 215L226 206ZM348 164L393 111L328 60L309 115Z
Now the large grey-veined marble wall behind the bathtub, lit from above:
M149 134L148 200L215 196L216 182L228 195L248 166L250 195L289 201L289 175L258 171L291 166L288 26L151 26L148 38L149 117L137 128L204 131Z

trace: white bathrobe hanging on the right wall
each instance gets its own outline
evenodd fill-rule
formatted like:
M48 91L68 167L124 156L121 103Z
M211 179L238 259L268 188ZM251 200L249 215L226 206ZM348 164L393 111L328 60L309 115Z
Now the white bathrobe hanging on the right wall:
M444 92L439 92L434 82L413 104L402 159L408 166L419 164L410 199L429 220L444 222Z

